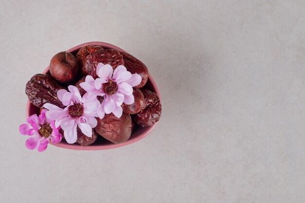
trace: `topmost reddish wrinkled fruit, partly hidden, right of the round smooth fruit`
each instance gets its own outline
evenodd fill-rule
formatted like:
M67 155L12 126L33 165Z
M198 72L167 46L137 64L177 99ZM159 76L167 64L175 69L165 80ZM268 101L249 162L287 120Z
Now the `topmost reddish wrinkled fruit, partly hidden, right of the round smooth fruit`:
M95 45L87 45L83 46L80 48L76 54L76 60L78 62L79 66L79 71L81 74L86 75L86 70L85 70L85 62L86 62L86 57L87 55L103 50L104 48L101 46L95 46Z

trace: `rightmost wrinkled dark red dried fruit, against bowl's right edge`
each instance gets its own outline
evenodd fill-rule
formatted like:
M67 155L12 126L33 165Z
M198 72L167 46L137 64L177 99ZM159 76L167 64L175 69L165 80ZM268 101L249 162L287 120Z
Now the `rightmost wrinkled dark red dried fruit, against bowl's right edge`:
M145 107L133 115L134 121L141 127L152 126L161 116L161 103L158 95L149 90L141 90L145 98Z

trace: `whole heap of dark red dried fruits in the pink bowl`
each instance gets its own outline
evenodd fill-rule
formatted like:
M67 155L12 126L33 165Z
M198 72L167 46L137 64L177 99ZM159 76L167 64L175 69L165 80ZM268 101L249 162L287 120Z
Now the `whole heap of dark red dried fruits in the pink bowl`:
M84 46L75 56L67 52L54 55L50 62L50 75L34 75L26 84L25 93L32 104L39 108L42 108L45 103L64 108L57 98L57 91L73 84L81 95L85 94L86 91L79 84L85 81L86 75L97 77L98 63L110 64L114 69L124 65L131 74L139 74L142 81L133 88L134 103L122 105L123 114L120 118L115 117L113 113L106 114L103 119L96 118L97 126L92 131L91 138L77 129L76 143L82 146L93 144L98 135L113 143L125 142L131 136L135 125L152 126L161 116L158 95L145 88L148 80L147 67L133 55L114 49L104 49L101 46ZM103 97L98 97L98 100L102 102Z

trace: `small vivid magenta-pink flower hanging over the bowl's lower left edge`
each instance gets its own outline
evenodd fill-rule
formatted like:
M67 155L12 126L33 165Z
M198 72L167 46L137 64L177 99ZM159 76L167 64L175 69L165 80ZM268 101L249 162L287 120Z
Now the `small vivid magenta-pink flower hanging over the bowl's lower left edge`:
M19 126L19 132L23 135L30 135L31 137L25 142L28 149L35 149L39 152L46 150L49 140L53 143L61 141L62 135L58 132L60 128L55 127L54 121L46 118L45 109L43 109L39 116L31 115L26 119L27 124Z

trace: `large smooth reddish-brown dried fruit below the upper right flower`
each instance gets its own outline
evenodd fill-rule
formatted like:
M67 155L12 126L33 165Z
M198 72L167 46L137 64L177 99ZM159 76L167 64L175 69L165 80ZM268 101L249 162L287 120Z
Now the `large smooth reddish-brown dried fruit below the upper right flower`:
M105 114L103 119L96 120L95 131L115 144L127 141L132 133L132 118L127 113L123 112L120 118L113 113Z

